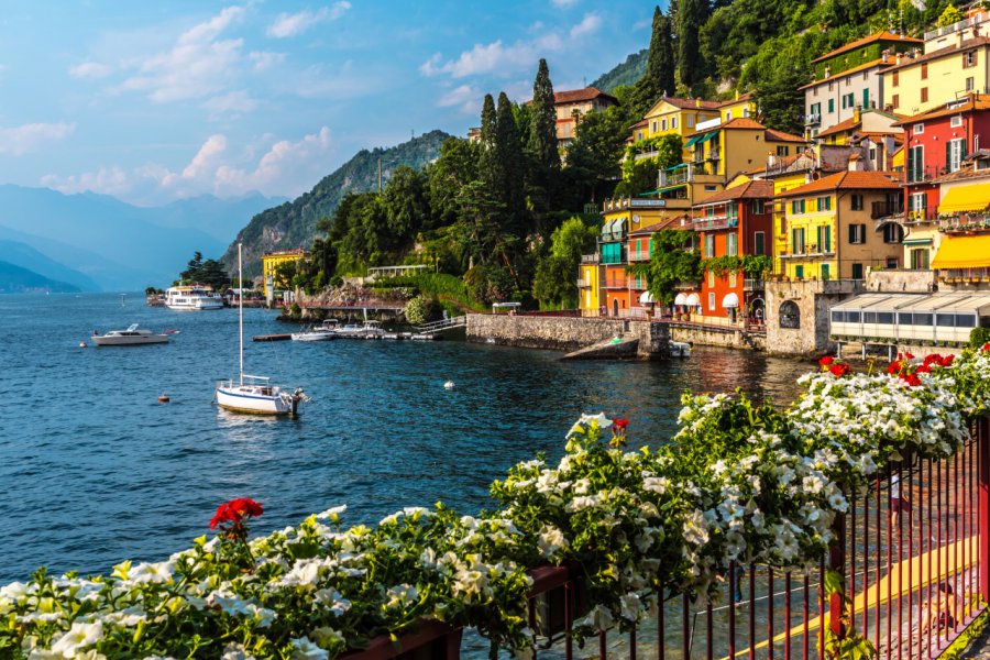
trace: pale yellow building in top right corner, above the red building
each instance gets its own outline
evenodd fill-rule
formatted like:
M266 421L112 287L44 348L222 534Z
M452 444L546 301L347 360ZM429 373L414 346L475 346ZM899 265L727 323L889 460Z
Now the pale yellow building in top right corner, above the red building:
M919 114L967 91L990 94L990 37L967 21L925 35L924 54L898 55L883 73L883 102L894 112Z

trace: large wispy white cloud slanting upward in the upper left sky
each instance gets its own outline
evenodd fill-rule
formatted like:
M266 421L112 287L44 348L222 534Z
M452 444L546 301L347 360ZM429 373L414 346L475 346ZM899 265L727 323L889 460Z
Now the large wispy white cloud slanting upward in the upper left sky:
M138 63L138 74L128 78L121 89L146 91L156 102L201 98L221 90L242 59L242 40L218 40L241 20L244 8L228 7L209 21L193 26L178 36L167 52Z

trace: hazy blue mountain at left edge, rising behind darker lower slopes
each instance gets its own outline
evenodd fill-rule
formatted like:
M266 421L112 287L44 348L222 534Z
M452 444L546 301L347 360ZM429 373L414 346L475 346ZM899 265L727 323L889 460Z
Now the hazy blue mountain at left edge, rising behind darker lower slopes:
M161 209L141 208L108 195L63 195L47 188L0 186L0 228L45 241L57 241L98 257L82 264L54 255L35 242L20 240L94 278L101 288L143 289L167 286L197 251L207 257L222 254L228 240L215 238L198 222L175 220L182 227L163 227ZM109 263L129 272L125 277L106 272ZM110 285L109 282L113 280Z

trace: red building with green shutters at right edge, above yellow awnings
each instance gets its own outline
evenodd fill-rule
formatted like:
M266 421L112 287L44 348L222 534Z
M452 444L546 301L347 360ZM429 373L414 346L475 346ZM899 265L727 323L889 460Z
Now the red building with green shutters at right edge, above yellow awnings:
M937 179L963 168L963 160L979 151L981 134L990 146L990 96L969 94L895 125L905 135L905 219L932 222L941 201Z

